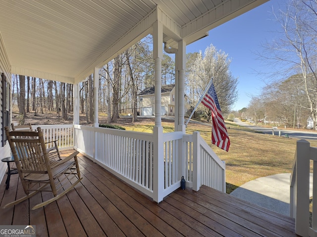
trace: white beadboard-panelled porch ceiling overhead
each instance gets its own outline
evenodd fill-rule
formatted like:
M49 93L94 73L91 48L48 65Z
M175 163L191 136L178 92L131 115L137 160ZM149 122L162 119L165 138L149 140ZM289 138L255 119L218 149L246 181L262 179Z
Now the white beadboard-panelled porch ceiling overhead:
M164 41L173 45L171 36L189 44L265 1L1 0L0 37L12 73L74 83L151 33L140 23L155 21L149 16L157 6L174 25L159 19L166 23Z

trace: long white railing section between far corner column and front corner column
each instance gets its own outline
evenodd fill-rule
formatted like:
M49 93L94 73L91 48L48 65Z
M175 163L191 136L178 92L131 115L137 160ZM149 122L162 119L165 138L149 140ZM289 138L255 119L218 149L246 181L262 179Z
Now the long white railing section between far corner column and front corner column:
M153 197L153 134L74 125L74 147Z

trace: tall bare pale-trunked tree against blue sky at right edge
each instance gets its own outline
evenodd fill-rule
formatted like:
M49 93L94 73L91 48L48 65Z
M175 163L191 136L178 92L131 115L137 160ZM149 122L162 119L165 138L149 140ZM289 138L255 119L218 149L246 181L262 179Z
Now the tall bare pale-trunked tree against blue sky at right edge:
M310 112L316 127L317 1L289 0L286 10L279 10L274 16L281 26L281 37L266 44L261 56L275 67L275 75L281 75L278 79L298 75L297 84L303 81L307 104L297 105Z

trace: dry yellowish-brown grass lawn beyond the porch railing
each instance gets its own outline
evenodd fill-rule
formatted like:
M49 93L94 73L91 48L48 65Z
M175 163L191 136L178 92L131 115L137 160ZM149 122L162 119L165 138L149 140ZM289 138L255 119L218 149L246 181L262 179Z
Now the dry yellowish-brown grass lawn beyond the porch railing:
M121 124L122 126L122 124ZM127 130L152 132L152 124L124 124ZM174 131L174 122L162 122L164 132ZM211 126L190 122L186 133L199 131L218 157L226 163L227 193L253 179L278 173L290 173L297 139L265 135L226 122L230 148L225 152L211 144ZM229 128L230 127L230 128ZM317 135L317 134L316 134ZM311 140L311 146L317 141Z

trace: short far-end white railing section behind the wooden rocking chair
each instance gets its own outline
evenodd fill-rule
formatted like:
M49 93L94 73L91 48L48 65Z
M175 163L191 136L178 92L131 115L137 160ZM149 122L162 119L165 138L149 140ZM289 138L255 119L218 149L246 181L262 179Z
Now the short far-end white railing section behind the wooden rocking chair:
M33 130L41 127L46 142L57 140L59 150L73 148L73 124L65 125L32 125ZM53 147L53 143L47 143L47 148Z

